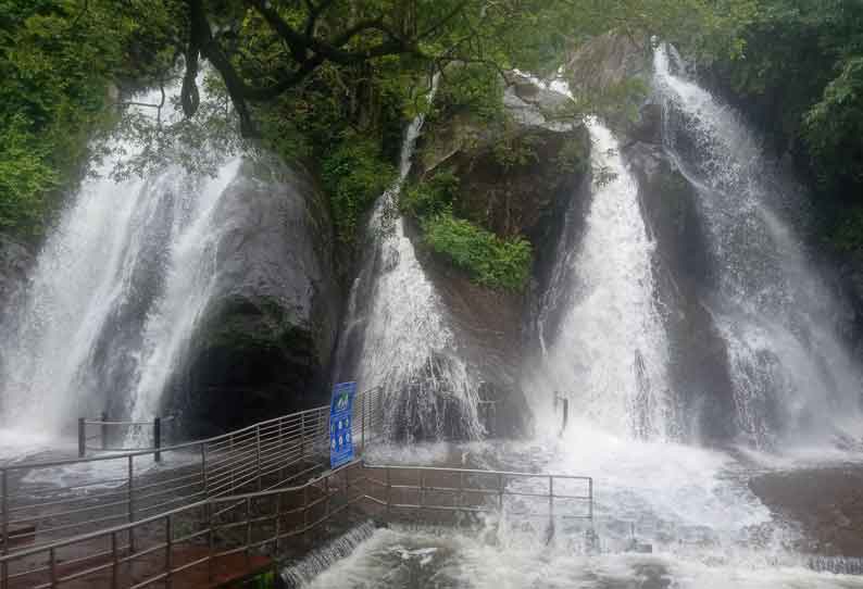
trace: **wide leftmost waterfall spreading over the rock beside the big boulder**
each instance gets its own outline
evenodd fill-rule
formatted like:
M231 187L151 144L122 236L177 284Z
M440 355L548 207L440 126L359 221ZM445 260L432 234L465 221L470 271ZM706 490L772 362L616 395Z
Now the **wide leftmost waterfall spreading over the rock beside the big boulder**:
M170 106L162 112L163 121L177 116ZM109 175L118 158L137 148L110 147L98 176L68 199L25 300L1 326L2 427L60 435L105 409L112 417L152 418L208 302L213 211L239 159L215 177L166 165L115 181Z

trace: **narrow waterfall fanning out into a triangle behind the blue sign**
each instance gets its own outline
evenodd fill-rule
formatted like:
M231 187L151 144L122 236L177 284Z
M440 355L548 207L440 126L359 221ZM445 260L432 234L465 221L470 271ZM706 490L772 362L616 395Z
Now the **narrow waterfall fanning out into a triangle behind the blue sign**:
M458 353L445 308L417 260L405 220L397 214L423 123L421 114L408 127L399 177L378 198L368 221L337 371L363 389L384 389L390 408L387 436L473 439L483 431L476 412L479 384Z

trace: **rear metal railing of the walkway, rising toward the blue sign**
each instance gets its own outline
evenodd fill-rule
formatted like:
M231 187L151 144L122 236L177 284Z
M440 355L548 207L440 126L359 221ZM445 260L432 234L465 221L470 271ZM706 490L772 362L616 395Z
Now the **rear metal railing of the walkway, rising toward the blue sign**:
M380 430L379 389L354 402L359 451ZM159 450L0 467L2 554L133 523L208 498L265 490L328 466L329 406ZM129 544L134 549L134 535Z

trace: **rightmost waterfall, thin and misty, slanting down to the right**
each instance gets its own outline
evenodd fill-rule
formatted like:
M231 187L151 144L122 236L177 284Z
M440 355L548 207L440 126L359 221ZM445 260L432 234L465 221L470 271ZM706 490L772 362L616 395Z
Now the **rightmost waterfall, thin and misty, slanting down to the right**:
M853 431L860 377L837 337L841 305L789 223L799 195L741 118L678 73L673 48L656 49L654 70L666 151L708 226L738 429L756 446Z

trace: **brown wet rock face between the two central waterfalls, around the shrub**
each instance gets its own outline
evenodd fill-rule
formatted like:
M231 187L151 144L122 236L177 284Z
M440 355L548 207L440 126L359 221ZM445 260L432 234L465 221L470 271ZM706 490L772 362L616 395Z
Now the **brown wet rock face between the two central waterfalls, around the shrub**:
M504 95L511 117L487 124L466 114L430 123L421 140L417 175L449 171L460 179L453 212L498 236L523 236L534 246L535 281L553 262L564 217L589 168L590 139L584 126L550 118L567 98L520 79ZM501 152L505 145L506 153ZM511 158L514 156L514 158ZM459 353L477 375L478 413L489 435L517 436L529 427L521 388L524 318L529 296L492 291L437 260L408 233L421 264L446 309ZM439 413L445 413L439 410ZM455 415L458 418L458 415Z

